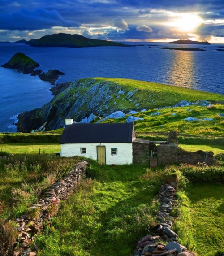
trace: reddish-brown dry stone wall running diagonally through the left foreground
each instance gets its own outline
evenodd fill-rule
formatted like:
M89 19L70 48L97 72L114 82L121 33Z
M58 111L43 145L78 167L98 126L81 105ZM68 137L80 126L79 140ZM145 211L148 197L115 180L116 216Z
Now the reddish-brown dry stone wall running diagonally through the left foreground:
M52 216L57 213L61 200L66 200L69 193L75 188L81 180L82 175L86 175L87 161L79 163L59 182L49 187L39 199L38 204L30 207L30 213L15 220L18 231L18 238L15 243L15 256L35 256L30 244L32 243L36 251L38 247L34 243L34 235L43 229L44 225L49 223Z

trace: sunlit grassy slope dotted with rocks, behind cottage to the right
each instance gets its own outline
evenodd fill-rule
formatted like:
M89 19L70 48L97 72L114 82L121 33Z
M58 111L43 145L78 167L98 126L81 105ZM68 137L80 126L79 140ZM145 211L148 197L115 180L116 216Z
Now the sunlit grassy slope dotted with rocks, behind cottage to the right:
M159 115L151 115L153 113L159 113ZM135 117L144 118L144 120L135 121L134 128L136 133L142 136L147 136L147 133L162 133L170 130L188 135L220 136L223 144L224 117L219 116L220 113L224 113L223 104L216 104L211 108L189 106L153 109L134 114ZM128 115L116 120L107 119L104 122L125 122L127 117ZM185 121L187 117L198 118L201 121ZM214 121L203 120L204 118L212 118Z

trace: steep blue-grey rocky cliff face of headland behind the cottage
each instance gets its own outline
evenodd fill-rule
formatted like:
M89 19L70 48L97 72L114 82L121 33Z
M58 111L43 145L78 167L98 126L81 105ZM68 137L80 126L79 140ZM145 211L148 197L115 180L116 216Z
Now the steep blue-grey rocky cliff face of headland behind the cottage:
M93 78L72 82L42 108L21 113L18 116L17 131L30 132L47 122L46 130L65 126L65 118L81 121L91 113L105 117L117 110L127 113L149 107L149 95L145 91L124 87L107 80ZM142 100L143 99L143 100Z

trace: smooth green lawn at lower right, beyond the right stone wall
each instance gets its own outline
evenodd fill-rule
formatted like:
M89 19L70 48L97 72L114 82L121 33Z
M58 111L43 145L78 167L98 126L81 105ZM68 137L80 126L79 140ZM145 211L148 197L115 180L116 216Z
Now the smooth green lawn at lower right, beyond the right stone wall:
M188 194L196 252L202 256L224 253L224 186L196 184Z

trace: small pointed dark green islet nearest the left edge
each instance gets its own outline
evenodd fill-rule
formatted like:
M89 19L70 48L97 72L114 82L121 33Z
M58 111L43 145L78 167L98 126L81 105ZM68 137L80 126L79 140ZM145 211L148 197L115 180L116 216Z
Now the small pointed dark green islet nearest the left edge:
M17 69L22 71L23 74L29 74L33 70L39 67L39 64L26 56L24 53L18 52L12 56L12 58L2 65L4 68Z

